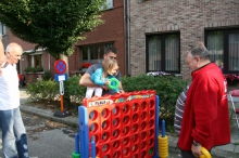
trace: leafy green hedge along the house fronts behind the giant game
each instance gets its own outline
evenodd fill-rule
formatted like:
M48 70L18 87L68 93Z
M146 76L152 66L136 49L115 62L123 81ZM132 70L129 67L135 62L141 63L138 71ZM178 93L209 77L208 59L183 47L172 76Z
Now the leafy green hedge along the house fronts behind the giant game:
M79 85L81 76L70 77L64 81L64 105L78 106L85 97L86 88ZM188 84L188 81L174 76L147 76L139 75L136 77L123 77L122 84L126 92L140 90L155 90L160 96L160 117L167 121L167 130L173 131L173 119L175 104L178 95ZM59 100L59 83L53 80L37 81L27 85L27 93L30 98L36 100Z

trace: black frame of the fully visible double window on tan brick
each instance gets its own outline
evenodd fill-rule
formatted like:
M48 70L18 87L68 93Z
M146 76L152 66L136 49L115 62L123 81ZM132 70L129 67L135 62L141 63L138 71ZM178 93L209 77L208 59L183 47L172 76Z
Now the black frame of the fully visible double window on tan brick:
M166 54L165 54L165 37L168 35L177 35L179 41L178 48L178 70L166 70ZM161 70L150 70L149 69L149 39L153 36L159 36L161 38ZM164 52L164 53L163 53ZM179 31L171 31L171 32L160 32L160 34L146 34L146 71L165 71L171 74L180 74L180 32Z

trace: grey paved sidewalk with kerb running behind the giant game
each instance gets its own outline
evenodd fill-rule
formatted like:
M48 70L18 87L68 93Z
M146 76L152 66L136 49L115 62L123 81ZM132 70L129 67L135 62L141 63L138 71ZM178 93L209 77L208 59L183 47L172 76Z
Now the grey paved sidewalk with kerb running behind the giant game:
M68 126L74 126L74 127L78 126L78 118L72 116L65 118L54 117L53 111L51 111L50 109L43 109L28 105L27 104L29 102L28 95L26 94L24 89L21 89L20 93L21 93L20 107L23 113L36 115ZM239 101L237 106L239 107ZM180 153L179 149L177 148L177 141L178 141L177 136L173 134L168 134L167 136L168 136L169 153L171 152ZM231 122L231 143L227 145L214 147L211 154L212 157L216 157L216 158L239 158L239 129L237 128L235 120L232 120Z

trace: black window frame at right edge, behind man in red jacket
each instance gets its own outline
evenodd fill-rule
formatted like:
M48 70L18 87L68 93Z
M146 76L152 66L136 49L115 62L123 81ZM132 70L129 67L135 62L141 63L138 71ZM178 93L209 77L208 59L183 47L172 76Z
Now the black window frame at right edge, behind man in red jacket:
M204 29L204 41L205 41L205 47L207 48L207 36L210 31L223 31L223 39L224 39L224 44L223 44L223 51L224 51L224 74L239 74L239 70L229 70L229 32L232 30L239 30L239 27L227 27L227 28L205 28ZM210 50L209 50L210 51ZM211 61L215 62L215 61Z

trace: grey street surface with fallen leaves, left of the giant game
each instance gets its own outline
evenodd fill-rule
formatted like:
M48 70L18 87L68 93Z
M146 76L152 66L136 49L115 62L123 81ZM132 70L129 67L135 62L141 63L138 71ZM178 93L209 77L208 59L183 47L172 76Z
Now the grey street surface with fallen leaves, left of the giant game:
M23 114L32 158L71 158L74 150L74 132L68 126ZM0 132L1 135L1 132ZM0 139L0 158L2 140Z

